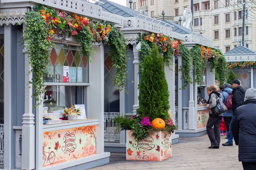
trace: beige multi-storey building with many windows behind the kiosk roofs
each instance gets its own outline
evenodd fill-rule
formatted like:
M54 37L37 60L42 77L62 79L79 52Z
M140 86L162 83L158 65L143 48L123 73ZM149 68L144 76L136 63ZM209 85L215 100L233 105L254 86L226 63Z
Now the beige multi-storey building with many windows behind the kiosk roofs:
M127 6L130 6L127 0ZM230 51L239 45L242 40L243 5L242 1L232 0L194 0L193 2L193 31L211 37L213 46L223 52ZM244 46L256 50L256 3L248 1L245 4ZM165 19L179 23L183 20L185 8L191 8L190 0L133 0L132 8L137 11L146 11L148 17L162 20L162 11ZM183 23L183 22L182 22Z

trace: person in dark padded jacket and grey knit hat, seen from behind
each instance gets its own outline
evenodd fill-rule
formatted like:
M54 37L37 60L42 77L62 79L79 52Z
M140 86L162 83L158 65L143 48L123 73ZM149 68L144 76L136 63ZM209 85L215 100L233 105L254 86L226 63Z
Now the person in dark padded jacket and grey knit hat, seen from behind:
M234 141L239 147L238 158L244 170L256 170L256 89L245 93L244 105L236 109L231 124Z

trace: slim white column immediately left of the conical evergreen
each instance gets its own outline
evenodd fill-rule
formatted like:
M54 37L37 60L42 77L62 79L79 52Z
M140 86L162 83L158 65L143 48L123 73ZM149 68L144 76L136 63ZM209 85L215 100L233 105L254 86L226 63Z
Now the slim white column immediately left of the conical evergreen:
M138 89L138 85L139 85L139 81L140 81L140 74L139 74L139 51L136 49L136 45L133 45L133 52L134 52L134 105L133 105L133 114L137 114L137 108L139 107L139 89Z

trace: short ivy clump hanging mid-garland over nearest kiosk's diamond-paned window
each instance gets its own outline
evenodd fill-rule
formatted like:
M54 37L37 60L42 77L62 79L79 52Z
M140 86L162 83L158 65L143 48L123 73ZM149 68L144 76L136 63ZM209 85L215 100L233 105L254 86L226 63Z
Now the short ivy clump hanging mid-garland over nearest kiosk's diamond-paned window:
M90 28L83 27L82 30L77 35L77 40L81 45L81 53L84 54L85 61L88 62L90 57L95 54L95 49L93 48L93 34L90 33Z

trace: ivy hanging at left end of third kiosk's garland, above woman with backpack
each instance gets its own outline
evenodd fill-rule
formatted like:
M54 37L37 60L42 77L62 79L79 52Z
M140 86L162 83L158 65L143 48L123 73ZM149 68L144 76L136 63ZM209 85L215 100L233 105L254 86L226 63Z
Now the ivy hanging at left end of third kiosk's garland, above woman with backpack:
M207 67L207 59L206 57L201 57L201 49L198 48L199 46L194 46L190 51L192 54L192 59L195 66L195 80L194 83L198 85L203 84L203 77L204 77L204 69Z

